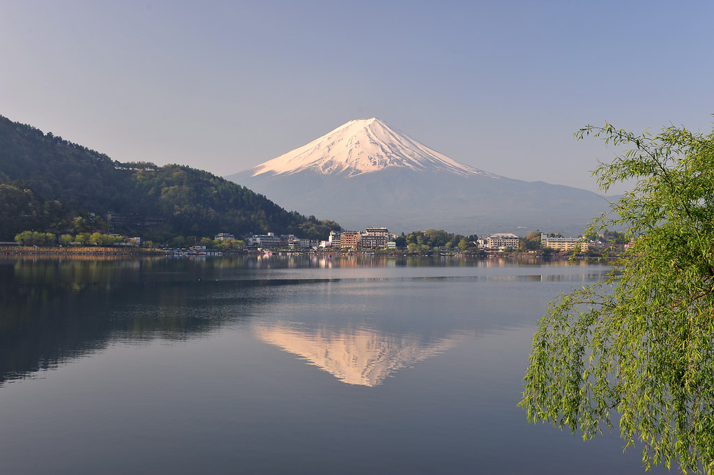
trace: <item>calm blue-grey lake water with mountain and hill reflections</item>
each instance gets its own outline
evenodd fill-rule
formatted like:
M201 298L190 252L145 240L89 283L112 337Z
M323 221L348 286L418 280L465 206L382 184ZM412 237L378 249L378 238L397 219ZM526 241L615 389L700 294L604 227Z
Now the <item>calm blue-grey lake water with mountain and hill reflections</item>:
M643 473L516 407L548 302L607 270L0 260L0 474Z

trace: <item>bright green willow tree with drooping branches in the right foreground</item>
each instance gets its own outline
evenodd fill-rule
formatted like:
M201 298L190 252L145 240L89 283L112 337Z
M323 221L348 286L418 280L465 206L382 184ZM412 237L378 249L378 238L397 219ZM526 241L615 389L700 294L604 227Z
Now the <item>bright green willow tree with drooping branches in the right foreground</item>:
M714 134L635 135L588 126L629 149L593 175L635 186L588 229L630 245L603 281L553 301L533 339L520 405L590 439L619 426L645 469L714 471Z

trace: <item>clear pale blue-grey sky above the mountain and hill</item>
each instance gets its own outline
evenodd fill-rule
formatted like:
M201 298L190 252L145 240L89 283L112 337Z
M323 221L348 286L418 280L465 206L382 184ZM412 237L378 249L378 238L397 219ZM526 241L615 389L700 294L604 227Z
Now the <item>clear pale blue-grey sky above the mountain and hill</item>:
M714 1L0 0L0 115L227 175L376 116L596 190L585 124L710 131ZM618 191L618 190L615 190Z

